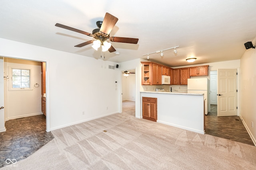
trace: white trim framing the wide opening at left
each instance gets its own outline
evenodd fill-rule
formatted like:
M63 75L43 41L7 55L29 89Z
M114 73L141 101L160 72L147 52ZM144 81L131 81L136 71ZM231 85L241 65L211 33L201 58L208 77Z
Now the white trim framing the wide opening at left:
M21 56L7 56L7 55L2 55L0 53L0 56L1 57L4 57L4 58L12 58L12 59L20 59L20 60L28 60L28 61L37 61L37 60L32 60L32 59L26 59L25 57L21 57ZM50 132L50 94L49 94L49 91L50 91L50 82L49 82L49 76L48 76L48 71L49 70L49 61L37 61L37 62L44 62L46 63L46 132Z

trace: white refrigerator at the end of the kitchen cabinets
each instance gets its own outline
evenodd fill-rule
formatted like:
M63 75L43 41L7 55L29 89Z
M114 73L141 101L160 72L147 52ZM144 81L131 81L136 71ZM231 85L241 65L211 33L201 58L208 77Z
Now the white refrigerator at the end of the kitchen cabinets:
M208 78L188 78L188 93L204 94L204 114L208 114Z

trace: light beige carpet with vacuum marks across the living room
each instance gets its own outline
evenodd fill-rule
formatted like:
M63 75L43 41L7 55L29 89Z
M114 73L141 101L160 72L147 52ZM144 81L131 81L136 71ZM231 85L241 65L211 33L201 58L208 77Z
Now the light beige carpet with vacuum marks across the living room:
M254 146L137 119L129 106L52 134L55 138L34 154L2 169L256 169Z

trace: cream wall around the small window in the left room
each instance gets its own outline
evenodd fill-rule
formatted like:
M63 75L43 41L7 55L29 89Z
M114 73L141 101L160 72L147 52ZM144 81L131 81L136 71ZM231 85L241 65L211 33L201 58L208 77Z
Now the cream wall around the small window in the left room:
M31 89L12 91L12 68L30 69ZM5 120L42 114L41 63L36 61L4 58ZM38 88L34 84L38 84Z

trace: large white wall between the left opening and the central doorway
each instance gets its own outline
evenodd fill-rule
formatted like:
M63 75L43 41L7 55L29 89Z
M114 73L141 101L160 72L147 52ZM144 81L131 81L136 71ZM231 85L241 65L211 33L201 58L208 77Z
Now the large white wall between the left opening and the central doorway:
M116 63L7 39L0 47L3 57L46 62L47 131L120 111Z

